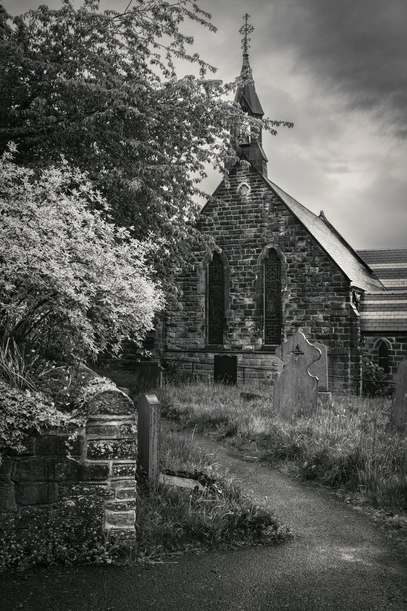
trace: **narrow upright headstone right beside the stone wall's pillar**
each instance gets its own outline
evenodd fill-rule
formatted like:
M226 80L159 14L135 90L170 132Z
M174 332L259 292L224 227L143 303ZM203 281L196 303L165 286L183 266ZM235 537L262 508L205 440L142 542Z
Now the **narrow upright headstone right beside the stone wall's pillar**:
M137 427L139 468L146 472L150 481L160 474L160 417L161 404L156 395L141 395L138 402L139 421Z

